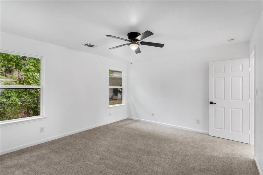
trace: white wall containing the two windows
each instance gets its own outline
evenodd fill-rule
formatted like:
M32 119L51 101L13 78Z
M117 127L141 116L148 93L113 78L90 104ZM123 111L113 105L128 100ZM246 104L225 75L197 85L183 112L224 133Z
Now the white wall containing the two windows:
M127 117L127 105L109 109L109 68L127 73L126 62L4 32L0 36L1 49L44 56L47 117L43 121L1 127L1 154ZM45 132L40 133L40 127L45 127Z

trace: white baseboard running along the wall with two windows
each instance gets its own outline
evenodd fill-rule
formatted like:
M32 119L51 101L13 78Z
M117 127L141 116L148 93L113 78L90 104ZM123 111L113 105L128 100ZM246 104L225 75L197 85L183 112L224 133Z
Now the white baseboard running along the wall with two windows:
M43 139L43 140L39 140L39 141L27 143L27 144L25 144L25 145L16 146L16 147L13 147L13 148L6 149L6 150L1 151L1 152L0 152L0 155L6 154L6 153L11 153L11 152L13 152L13 151L20 150L20 149L23 149L23 148L27 148L27 147L30 147L30 146L38 145L38 144L40 144L40 143L44 143L44 142L47 142L47 141L59 139L59 138L61 138L61 137L65 137L65 136L68 136L68 135L71 135L71 134L75 134L75 133L78 133L78 132L86 131L86 130L89 130L89 129L92 129L92 128L95 128L95 127L99 127L99 126L102 126L102 125L107 125L107 124L110 124L110 123L113 123L113 122L117 122L117 121L120 121L120 120L124 120L124 119L126 119L126 118L127 118L127 117L125 117L125 118L119 118L119 119L112 120L112 121L109 121L109 122L104 122L104 123L101 123L101 124L98 124L98 125L86 127L86 128L83 128L83 129L78 129L78 130L75 130L75 131L72 131L72 132L67 132L67 133L65 133L65 134L61 134L61 135L58 135L58 136L53 136L53 137L50 137L50 138L48 138L48 139Z

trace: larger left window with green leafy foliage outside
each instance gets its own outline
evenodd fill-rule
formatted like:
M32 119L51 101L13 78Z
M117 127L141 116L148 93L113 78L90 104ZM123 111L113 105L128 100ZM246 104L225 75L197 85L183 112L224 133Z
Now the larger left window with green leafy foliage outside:
M0 52L0 121L42 115L41 57Z

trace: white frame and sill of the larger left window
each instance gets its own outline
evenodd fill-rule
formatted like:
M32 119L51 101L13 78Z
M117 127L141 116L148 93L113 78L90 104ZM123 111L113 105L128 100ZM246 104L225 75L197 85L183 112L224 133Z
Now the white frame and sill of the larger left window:
M0 127L6 127L11 125L18 125L21 123L28 123L28 122L34 122L39 120L44 120L46 117L44 116L43 111L43 80L44 80L44 57L39 55L32 55L27 53L21 53L21 52L15 52L10 50L4 50L0 49L1 53L8 53L8 54L14 54L14 55L21 55L26 57L33 57L40 59L40 85L39 86L32 86L32 85L1 85L1 89L9 88L9 89L40 89L40 115L32 116L32 117L25 117L25 118L17 118L17 119L11 119L11 120L4 120L0 121Z

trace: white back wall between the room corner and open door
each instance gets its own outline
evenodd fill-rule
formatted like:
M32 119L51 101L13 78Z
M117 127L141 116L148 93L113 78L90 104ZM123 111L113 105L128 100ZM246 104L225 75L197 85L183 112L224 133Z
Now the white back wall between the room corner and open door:
M129 64L128 117L207 133L208 62L238 58L248 58L248 43L175 53L172 57L141 58Z

